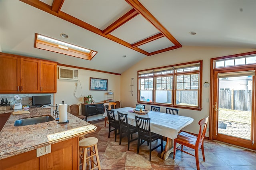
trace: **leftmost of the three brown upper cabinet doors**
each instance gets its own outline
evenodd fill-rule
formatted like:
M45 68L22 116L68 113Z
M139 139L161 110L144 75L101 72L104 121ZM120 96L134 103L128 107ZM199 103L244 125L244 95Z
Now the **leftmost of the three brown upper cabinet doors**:
M20 58L0 55L0 93L20 90Z

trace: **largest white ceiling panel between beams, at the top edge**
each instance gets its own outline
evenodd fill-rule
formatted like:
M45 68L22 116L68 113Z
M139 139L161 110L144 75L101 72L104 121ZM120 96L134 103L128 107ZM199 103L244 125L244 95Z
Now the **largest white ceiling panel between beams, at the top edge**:
M104 30L131 9L124 0L65 0L61 7L62 12L100 30Z

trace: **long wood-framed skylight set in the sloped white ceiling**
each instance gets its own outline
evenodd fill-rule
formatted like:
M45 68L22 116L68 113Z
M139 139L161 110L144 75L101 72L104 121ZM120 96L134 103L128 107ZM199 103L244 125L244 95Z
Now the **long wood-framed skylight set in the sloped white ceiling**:
M36 34L36 41L34 47L62 53L73 57L91 60L97 51L92 51L84 47L79 47L70 43L62 42L47 36Z

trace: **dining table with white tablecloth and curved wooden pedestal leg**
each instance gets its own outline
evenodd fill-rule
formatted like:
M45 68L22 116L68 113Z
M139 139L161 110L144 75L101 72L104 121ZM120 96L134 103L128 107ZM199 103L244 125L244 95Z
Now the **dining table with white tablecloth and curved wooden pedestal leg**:
M163 160L166 160L170 153L173 152L173 140L177 138L180 130L194 121L194 119L191 117L171 115L155 111L149 111L146 115L139 115L134 113L134 109L135 108L132 107L122 107L112 110L114 110L116 120L118 120L117 111L120 113L127 113L128 123L133 126L136 126L134 115L150 118L151 131L167 138L165 149L161 154L161 158ZM106 111L103 116L108 116Z

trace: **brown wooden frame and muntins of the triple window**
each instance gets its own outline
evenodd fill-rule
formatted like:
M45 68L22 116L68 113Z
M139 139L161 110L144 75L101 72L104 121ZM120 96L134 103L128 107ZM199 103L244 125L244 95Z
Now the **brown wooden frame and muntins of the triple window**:
M176 70L182 69L182 68L188 68L198 65L199 70L192 70L192 71L182 71L177 72ZM138 70L137 72L137 103L140 104L146 104L146 105L158 105L158 106L164 106L164 107L174 107L174 108L182 108L182 109L190 109L190 110L202 110L202 65L203 60L198 61L191 61L187 63L180 63L176 65L167 65L163 67L156 67L151 69L144 69L144 70ZM166 73L166 74L157 74L160 71L166 71L166 70L173 70L172 73ZM190 89L189 90L198 90L198 106L190 106L190 105L177 105L176 104L176 91L179 89L176 89L176 77L178 75L192 75L198 73L198 89ZM141 75L147 74L147 76L141 76ZM151 75L150 75L151 74ZM166 89L172 91L171 93L171 103L157 103L156 102L156 91L159 91L157 89L157 77L169 77L172 76L172 89ZM140 79L147 79L147 78L153 78L153 89L152 89L152 101L140 101L140 92L143 91L140 89ZM191 80L190 80L191 83ZM186 90L186 89L184 89ZM188 90L188 89L187 89Z

